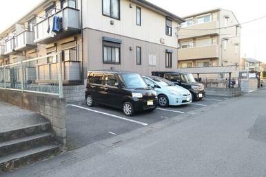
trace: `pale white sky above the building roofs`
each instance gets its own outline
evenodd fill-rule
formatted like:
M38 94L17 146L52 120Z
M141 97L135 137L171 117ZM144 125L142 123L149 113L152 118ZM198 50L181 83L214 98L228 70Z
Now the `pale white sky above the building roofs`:
M0 2L0 32L10 27L42 0L8 0ZM90 1L90 0L89 0ZM100 1L100 0L99 0ZM177 16L187 16L197 12L224 8L232 10L240 23L266 16L265 0L148 0ZM4 8L4 7L12 7ZM266 18L242 25L241 57L254 58L266 62Z

